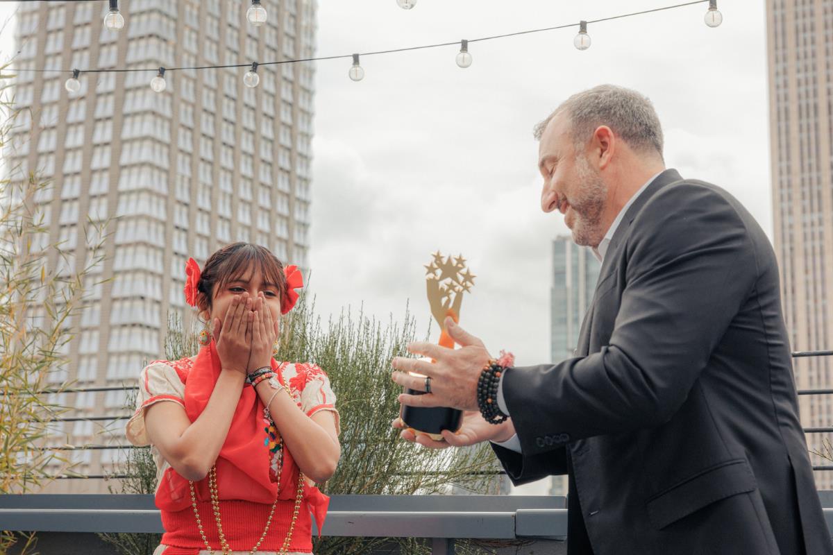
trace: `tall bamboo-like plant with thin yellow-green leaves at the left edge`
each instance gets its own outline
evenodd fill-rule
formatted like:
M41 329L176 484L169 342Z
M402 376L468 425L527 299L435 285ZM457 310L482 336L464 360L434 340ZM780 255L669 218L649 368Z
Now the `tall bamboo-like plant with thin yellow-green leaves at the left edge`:
M22 121L37 121L15 107L8 66L0 67L0 149L8 155L28 140ZM29 117L24 118L27 114ZM4 156L7 160L7 156ZM0 179L0 493L27 493L68 462L48 448L65 409L42 394L66 368L70 330L84 302L85 278L102 262L107 222L81 225L78 249L49 244L43 207L52 184L35 171L2 167ZM71 245L72 246L72 245ZM76 255L82 253L82 260ZM61 374L58 374L61 375ZM58 387L67 387L66 380ZM50 466L51 465L51 466ZM47 468L49 467L49 468ZM0 533L0 553L16 544L26 553L33 533Z

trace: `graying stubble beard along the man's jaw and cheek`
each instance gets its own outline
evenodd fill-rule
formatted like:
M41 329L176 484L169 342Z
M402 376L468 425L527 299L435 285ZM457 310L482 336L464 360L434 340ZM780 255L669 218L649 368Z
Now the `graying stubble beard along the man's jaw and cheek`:
M586 156L576 156L576 180L581 183L579 193L570 202L576 212L572 236L576 245L596 247L605 236L601 229L601 215L605 210L607 186L599 172L594 171Z

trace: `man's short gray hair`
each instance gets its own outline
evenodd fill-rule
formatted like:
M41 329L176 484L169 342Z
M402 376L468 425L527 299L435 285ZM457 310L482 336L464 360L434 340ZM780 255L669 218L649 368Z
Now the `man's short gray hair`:
M532 133L541 141L553 117L566 113L577 146L590 141L598 126L608 126L635 151L656 151L662 156L662 126L653 104L639 92L616 85L599 85L577 92L561 103Z

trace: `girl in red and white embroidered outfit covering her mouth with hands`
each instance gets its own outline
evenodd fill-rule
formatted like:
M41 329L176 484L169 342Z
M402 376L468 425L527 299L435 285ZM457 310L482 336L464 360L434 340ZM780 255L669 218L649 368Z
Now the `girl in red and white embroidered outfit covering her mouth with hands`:
M302 287L295 266L235 243L202 274L188 260L185 296L207 323L196 357L142 370L127 439L151 445L165 534L154 555L312 553L313 485L341 453L327 374L273 358L280 315Z

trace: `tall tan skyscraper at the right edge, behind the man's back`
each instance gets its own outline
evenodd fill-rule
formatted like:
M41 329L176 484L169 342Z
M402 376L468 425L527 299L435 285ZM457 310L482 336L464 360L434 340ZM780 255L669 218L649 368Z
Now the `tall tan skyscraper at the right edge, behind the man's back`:
M792 349L833 349L833 1L768 0L775 246ZM833 386L833 359L796 359L799 389ZM805 426L833 426L833 397L802 396ZM808 434L811 449L825 434ZM818 458L816 463L827 463ZM820 488L833 473L816 473Z

